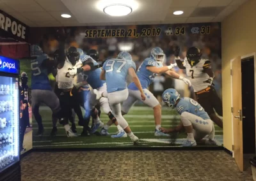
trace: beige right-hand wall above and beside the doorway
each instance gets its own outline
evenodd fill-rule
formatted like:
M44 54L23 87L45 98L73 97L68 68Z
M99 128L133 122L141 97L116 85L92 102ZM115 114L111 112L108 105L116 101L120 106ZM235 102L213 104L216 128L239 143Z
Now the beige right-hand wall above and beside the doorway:
M230 60L256 52L256 0L249 0L223 20L221 36L223 141L232 150Z

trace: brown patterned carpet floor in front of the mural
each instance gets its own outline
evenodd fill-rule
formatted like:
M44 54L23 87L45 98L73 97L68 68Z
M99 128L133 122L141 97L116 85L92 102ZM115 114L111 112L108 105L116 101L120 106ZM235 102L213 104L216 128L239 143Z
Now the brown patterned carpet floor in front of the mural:
M224 151L32 152L23 181L252 180Z

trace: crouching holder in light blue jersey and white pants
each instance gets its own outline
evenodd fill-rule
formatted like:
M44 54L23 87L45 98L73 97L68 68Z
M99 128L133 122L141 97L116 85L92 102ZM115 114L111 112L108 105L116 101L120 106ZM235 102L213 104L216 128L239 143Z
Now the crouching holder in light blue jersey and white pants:
M166 105L176 108L180 114L180 125L170 129L160 127L163 133L179 132L184 127L188 138L182 147L194 147L196 141L205 141L207 145L216 145L214 124L201 105L191 98L180 98L180 94L175 89L166 89L162 98ZM202 140L207 135L208 138Z

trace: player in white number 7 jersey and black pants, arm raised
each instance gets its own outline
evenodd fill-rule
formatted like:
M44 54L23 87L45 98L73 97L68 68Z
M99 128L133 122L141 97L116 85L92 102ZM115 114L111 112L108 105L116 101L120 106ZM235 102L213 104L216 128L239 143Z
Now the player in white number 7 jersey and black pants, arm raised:
M198 103L209 114L211 120L219 127L223 127L223 122L218 117L222 117L222 101L219 98L212 83L214 73L212 71L211 61L202 59L202 52L199 48L191 47L188 49L186 58L182 61L179 57L180 48L174 48L175 61L180 69L186 69L186 74L189 76L192 83L196 99ZM217 112L218 115L216 115Z

